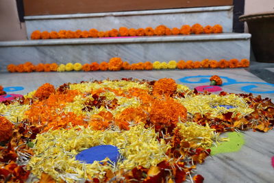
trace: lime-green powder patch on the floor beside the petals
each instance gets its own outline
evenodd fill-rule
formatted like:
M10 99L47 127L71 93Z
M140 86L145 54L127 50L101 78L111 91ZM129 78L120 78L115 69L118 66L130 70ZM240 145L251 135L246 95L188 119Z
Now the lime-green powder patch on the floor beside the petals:
M245 144L245 139L242 133L238 132L229 132L228 137L229 141L221 143L218 147L211 147L211 155L230 153L240 151L242 145Z

